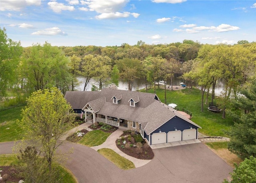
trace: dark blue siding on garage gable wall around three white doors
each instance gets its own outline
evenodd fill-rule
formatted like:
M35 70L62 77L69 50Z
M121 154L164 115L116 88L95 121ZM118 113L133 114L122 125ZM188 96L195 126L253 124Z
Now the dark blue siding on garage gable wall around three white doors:
M154 132L152 132L150 134L150 142L152 142L151 135L154 134L154 133L158 133L159 130L161 130L161 132L165 132L166 134L168 134L168 132L174 131L175 128L177 130L183 131L183 130L186 130L186 129L190 129L190 126L192 128L195 128L196 130L198 130L197 126L195 126L195 125L193 125L193 124L191 124L191 123L189 123L189 122L179 118L178 116L175 116L174 118L170 119L168 122L166 122L165 124L163 124L162 126L157 128ZM197 134L196 134L196 138L198 138ZM167 139L166 139L166 143L167 143Z

